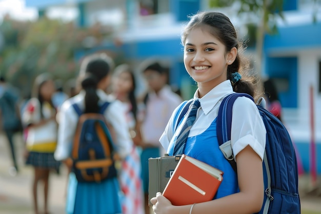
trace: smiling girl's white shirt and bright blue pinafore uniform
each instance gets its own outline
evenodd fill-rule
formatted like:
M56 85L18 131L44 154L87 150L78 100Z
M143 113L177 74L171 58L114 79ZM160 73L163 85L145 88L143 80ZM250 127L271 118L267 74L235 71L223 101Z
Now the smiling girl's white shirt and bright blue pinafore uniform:
M184 151L186 155L224 172L223 182L214 199L239 191L236 173L224 158L222 151L219 150L216 136L219 105L225 96L230 93L233 93L233 88L229 80L219 84L200 99L198 98L198 90L196 90L194 99L200 101L200 108L197 111L196 121L190 129ZM162 137L159 139L169 155L173 155L177 134L185 121L185 118L183 118L177 130L174 130L179 112L183 109L185 103L183 102L175 109ZM245 97L237 98L233 105L232 115L231 145L234 157L249 145L263 160L266 129L255 103Z

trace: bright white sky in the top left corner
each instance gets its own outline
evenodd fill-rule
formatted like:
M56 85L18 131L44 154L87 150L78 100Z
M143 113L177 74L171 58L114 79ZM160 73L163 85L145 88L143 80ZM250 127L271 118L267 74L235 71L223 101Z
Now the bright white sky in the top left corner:
M35 20L38 12L35 8L26 8L24 0L0 0L0 23L6 14L16 20Z

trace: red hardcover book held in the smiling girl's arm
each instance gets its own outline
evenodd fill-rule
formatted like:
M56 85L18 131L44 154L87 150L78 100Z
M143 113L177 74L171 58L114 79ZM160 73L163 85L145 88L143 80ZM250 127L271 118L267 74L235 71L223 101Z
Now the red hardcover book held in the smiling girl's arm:
M163 196L173 205L211 201L222 181L223 171L183 154Z

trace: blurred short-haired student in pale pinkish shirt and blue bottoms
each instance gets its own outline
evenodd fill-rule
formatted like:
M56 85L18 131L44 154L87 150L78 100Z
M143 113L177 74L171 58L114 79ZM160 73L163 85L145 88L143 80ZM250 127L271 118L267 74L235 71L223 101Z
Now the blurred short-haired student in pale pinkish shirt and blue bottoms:
M143 68L143 75L148 83L148 92L141 101L139 126L141 127L142 147L141 164L142 179L145 197L145 213L149 214L148 206L148 159L161 155L159 138L169 121L174 109L182 102L178 94L172 91L167 84L167 70L158 62L151 63Z

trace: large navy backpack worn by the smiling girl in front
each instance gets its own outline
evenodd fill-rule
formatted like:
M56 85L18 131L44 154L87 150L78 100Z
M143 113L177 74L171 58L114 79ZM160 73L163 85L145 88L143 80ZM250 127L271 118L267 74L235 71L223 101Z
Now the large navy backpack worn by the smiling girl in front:
M246 96L254 102L252 96L246 93L232 93L222 101L217 115L217 140L220 150L236 172L236 163L231 147L232 107L239 96ZM191 102L183 107L178 122L188 111ZM276 116L260 105L256 105L267 130L266 147L263 161L265 195L259 214L300 213L300 198L298 193L298 168L296 155L290 135ZM176 125L176 128L177 128Z

